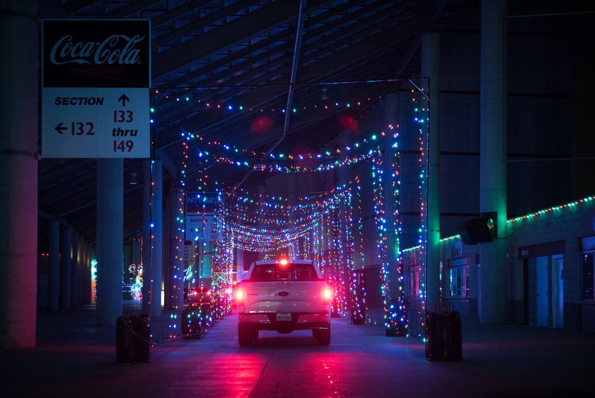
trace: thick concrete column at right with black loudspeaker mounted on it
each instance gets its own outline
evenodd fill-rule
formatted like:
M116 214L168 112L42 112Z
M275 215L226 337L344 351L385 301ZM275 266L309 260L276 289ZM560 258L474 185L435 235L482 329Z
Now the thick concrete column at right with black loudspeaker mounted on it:
M497 212L497 239L483 243L478 313L506 322L506 1L481 3L480 212Z

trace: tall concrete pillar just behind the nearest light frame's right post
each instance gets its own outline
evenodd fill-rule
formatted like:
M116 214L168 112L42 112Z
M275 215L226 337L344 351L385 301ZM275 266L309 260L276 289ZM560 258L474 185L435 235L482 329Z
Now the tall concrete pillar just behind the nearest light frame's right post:
M440 299L440 35L421 38L421 75L429 77L430 117L428 137L428 240L426 303L433 311Z

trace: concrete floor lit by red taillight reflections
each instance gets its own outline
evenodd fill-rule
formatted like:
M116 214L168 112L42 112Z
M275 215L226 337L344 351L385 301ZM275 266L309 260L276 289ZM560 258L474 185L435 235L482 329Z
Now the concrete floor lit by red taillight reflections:
M0 350L2 397L566 397L593 391L595 334L463 317L463 359L425 359L415 338L333 318L311 332L237 344L227 316L201 340L161 341L150 363L115 363L115 329L93 306L37 313L37 347ZM588 391L591 391L588 393Z

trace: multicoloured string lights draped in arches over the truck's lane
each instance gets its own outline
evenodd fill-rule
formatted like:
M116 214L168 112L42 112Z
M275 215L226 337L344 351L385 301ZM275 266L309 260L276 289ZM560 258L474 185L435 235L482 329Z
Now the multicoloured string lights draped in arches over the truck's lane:
M173 99L175 97L170 100ZM367 99L367 101L371 100L371 98ZM180 102L185 103L186 101ZM418 186L419 189L420 219L417 231L419 247L420 250L423 250L426 228L425 190L427 189L425 182L427 178L425 171L427 167L427 116L424 112L427 113L427 107L419 105L418 102L416 98L413 99L417 113L411 119L417 123L419 132L419 184L411 184L411 182L409 184ZM225 101L205 101L202 104L205 103L206 108L203 110L208 108L215 111L216 109L225 112L227 114L225 117L229 117L229 113L242 111L263 113L262 117L267 117L264 108L250 108ZM331 107L334 111L337 107L356 107L364 104L365 101L333 101L330 103L334 103L334 106ZM309 107L310 110L317 112L325 112L327 108L328 104L315 104ZM303 110L306 110L306 107L290 109L292 113L299 113ZM267 113L283 113L284 111L281 108L266 110ZM158 116L158 113L159 110L156 109L155 117ZM405 315L406 307L402 287L404 280L403 259L402 252L399 251L402 221L399 218L401 165L398 130L399 125L388 125L380 132L369 132L368 138L360 139L359 142L350 142L333 150L327 148L320 153L304 150L299 154L257 153L230 143L206 139L199 132L182 132L180 135L182 139L179 141L182 145L183 157L179 178L183 186L187 184L185 179L190 157L199 159L204 166L196 172L196 189L199 191L206 189L208 184L208 168L212 164L218 163L246 169L257 167L259 171L271 173L327 172L339 167L352 167L361 163L369 164L372 174L369 194L372 199L373 218L377 228L377 253L374 253L374 256L378 258L381 265L384 322L387 328L394 328L397 322L402 322L407 327L411 320L406 319ZM383 151L391 151L393 161L390 160L390 156L384 157ZM262 161L261 159L265 157L266 159ZM258 164L255 165L256 162ZM320 265L325 279L334 288L336 299L332 304L333 313L345 315L352 312L356 318L366 318L369 321L371 318L369 318L367 308L367 292L365 286L358 282L358 275L364 275L367 263L377 262L373 257L366 258L364 254L364 242L369 238L364 237L361 183L358 175L349 183L351 188L332 190L320 195L292 197L289 200L288 197L279 197L279 195L273 194L249 194L242 189L236 192L235 187L230 187L234 188L234 192L224 193L223 189L218 188L217 181L210 181L209 185L213 184L218 194L225 197L224 203L221 201L215 210L211 231L213 235L212 288L221 294L223 302L226 303L222 313L226 312L226 308L229 308L231 304L231 288L234 275L237 272L233 265L236 248L258 251L265 258L274 256L277 251L287 250L293 259L312 259ZM411 193L408 192L408 194ZM387 206L389 204L390 206ZM394 210L390 210L392 213L387 213L387 209ZM357 226L355 229L354 223ZM389 232L392 234L393 231L394 235L389 235ZM359 255L354 257L356 243L359 246ZM388 250L389 245L391 248L395 247L396 250ZM204 250L204 247L200 245L197 245L196 248L197 252ZM398 255L393 256L393 253ZM199 260L196 255L193 256L195 266L203 261L203 256L200 257ZM195 279L196 272L198 271L189 268L184 278L187 281ZM425 275L423 277L425 278ZM415 321L415 324L422 327L425 322L425 281L416 294L421 306L418 310L420 319ZM349 303L352 303L351 307L349 307ZM422 313L423 319L421 318Z

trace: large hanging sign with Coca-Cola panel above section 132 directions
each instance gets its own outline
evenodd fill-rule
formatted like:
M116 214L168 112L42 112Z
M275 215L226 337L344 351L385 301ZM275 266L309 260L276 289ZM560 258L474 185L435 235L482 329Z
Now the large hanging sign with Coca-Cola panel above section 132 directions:
M150 157L151 21L42 21L42 156Z

